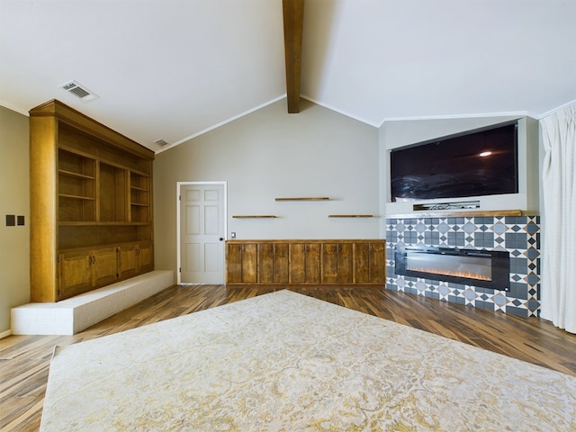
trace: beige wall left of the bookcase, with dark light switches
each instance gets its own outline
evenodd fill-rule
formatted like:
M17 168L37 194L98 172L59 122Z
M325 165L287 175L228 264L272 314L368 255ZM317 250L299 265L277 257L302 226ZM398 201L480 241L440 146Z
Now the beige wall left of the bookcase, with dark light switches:
M10 310L30 302L28 117L0 106L0 337L10 329ZM5 215L24 216L7 227Z

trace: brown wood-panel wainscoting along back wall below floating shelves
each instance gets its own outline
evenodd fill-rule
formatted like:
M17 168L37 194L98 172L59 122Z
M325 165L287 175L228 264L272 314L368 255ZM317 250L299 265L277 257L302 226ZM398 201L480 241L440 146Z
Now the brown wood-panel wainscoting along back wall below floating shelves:
M227 284L385 284L385 240L228 240Z

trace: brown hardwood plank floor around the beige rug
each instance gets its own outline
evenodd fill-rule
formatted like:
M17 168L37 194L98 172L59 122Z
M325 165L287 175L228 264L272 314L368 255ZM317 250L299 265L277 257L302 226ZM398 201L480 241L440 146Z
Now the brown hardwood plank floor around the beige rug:
M283 287L175 286L74 336L0 339L0 430L39 430L55 345L100 338L279 289ZM522 319L378 287L300 285L289 289L576 376L576 335L545 320Z

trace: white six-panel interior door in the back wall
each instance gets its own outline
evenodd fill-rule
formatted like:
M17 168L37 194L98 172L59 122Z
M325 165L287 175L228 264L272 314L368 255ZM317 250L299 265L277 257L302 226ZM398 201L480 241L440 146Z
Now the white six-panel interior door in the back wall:
M180 284L224 284L225 184L179 187Z

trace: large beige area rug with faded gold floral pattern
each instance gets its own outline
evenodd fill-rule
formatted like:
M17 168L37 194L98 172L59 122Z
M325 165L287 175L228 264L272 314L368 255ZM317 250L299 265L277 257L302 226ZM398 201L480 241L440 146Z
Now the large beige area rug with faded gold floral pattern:
M576 377L281 291L56 347L41 431L573 431Z

